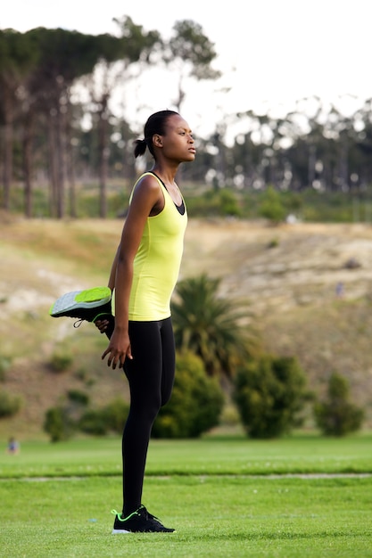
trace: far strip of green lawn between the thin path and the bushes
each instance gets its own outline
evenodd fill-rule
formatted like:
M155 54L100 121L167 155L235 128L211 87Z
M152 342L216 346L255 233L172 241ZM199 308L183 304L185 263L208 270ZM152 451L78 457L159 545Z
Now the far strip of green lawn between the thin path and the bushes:
M20 455L0 455L0 478L115 476L121 467L119 451L116 438L24 442ZM345 439L316 435L273 440L153 439L146 468L148 476L352 472L372 473L370 433Z

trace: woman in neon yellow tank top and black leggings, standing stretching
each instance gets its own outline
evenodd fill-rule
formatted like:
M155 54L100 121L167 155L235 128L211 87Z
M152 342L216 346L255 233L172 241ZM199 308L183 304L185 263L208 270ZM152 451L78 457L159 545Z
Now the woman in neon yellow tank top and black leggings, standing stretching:
M161 406L170 398L175 346L170 297L178 279L186 229L185 201L175 182L180 163L193 161L194 137L174 111L154 113L135 156L153 155L153 168L138 178L112 264L109 287L115 290L115 321L103 352L112 368L123 368L130 410L122 439L123 509L112 533L165 531L142 505L150 434ZM109 332L108 320L96 322ZM111 333L111 332L110 332Z

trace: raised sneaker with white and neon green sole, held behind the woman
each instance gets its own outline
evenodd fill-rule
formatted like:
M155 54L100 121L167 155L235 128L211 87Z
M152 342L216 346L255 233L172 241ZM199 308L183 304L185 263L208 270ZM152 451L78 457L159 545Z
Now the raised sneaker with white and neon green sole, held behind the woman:
M98 319L112 321L112 291L109 287L95 287L86 291L67 292L55 300L49 310L52 317L75 317L86 322Z

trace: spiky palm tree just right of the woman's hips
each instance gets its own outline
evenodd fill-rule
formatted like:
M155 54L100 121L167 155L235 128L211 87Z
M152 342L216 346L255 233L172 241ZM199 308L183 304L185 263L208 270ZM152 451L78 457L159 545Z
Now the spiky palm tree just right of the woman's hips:
M203 359L210 375L231 378L238 363L249 357L252 338L240 324L246 312L218 296L219 279L207 275L178 283L172 302L176 347L189 349Z

